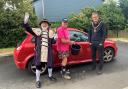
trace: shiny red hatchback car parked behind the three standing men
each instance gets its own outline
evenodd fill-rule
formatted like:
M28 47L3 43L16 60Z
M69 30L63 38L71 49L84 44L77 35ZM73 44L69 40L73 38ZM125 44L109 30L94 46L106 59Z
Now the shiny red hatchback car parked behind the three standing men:
M91 62L92 52L90 49L90 43L88 42L88 35L87 33L81 32L80 30L74 28L68 28L70 32L70 38L72 41L74 39L74 35L77 35L76 44L81 46L80 53L78 55L70 55L68 58L68 64L80 64L85 62ZM27 33L27 32L26 32ZM54 40L56 41L57 35L55 34ZM33 65L34 59L34 37L27 33L27 37L24 41L14 50L14 61L16 66L19 69L28 69L30 72L35 73L35 66ZM114 59L117 55L117 46L116 43L113 41L105 40L104 43L104 62L110 62ZM59 60L57 56L57 45L56 43L53 44L53 51L54 51L54 63L55 67L59 67L61 65L61 60ZM98 56L97 56L98 59ZM42 68L41 73L46 72L47 65L45 64Z

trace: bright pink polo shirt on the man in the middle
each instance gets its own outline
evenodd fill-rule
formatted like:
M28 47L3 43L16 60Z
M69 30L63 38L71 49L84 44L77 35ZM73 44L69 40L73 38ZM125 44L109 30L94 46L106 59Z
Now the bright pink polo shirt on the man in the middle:
M65 51L69 51L69 43L62 43L61 39L70 39L69 36L69 31L67 30L67 28L64 27L59 27L57 29L57 36L58 36L58 40L57 40L57 50L61 51L61 52L65 52Z

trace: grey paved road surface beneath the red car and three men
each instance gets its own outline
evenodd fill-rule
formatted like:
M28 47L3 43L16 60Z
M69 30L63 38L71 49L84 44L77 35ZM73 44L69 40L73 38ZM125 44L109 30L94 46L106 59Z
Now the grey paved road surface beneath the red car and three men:
M118 43L119 53L116 60L105 64L104 73L97 75L89 71L91 64L72 67L72 80L64 80L55 71L57 82L41 76L41 89L128 89L128 43ZM27 70L18 70L13 57L0 57L0 89L36 89L35 76Z

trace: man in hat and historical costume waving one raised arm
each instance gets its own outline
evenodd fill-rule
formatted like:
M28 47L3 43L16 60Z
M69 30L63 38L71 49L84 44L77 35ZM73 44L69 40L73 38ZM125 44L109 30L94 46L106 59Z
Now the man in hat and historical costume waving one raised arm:
M47 19L43 19L39 25L40 29L32 29L29 24L29 14L25 13L24 28L27 32L35 37L35 58L34 64L36 65L36 87L41 87L40 73L44 63L48 65L48 77L50 80L56 79L52 75L53 69L53 54L52 54L52 35L53 31L50 30L50 23Z

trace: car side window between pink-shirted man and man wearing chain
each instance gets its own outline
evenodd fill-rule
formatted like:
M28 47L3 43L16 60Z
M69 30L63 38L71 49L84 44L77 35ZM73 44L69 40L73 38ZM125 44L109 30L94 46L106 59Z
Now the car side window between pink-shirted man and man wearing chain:
M88 41L88 36L82 32L70 31L70 40L76 42L86 42Z

